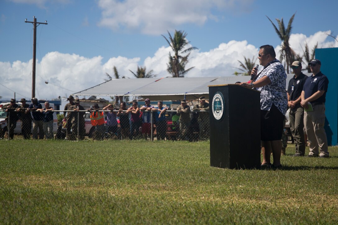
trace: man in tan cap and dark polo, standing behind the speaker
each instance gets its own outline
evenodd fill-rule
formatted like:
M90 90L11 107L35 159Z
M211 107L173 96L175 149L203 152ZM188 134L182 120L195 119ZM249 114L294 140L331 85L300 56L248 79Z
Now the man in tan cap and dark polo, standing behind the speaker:
M295 141L296 153L293 156L304 156L305 154L305 139L304 139L304 108L300 106L300 94L303 91L308 76L301 72L301 63L294 61L291 69L295 75L289 81L288 86L288 106L290 108L290 130Z

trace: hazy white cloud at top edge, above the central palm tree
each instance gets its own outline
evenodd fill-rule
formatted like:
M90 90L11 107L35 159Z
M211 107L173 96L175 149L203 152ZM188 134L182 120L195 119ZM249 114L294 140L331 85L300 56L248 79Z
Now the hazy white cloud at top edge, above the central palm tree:
M213 9L247 8L252 0L99 0L102 9L100 26L136 29L146 34L161 34L181 24L202 25L208 19L217 20Z

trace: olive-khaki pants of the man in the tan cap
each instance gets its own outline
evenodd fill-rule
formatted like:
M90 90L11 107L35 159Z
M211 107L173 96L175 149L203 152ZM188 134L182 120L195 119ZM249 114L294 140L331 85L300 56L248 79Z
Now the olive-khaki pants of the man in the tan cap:
M291 108L289 112L290 130L295 141L296 154L305 154L305 139L304 139L304 108L297 104Z

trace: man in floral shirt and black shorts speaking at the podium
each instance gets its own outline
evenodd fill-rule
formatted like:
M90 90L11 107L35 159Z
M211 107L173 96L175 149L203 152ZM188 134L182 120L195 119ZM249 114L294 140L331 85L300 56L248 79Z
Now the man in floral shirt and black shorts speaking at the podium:
M286 73L276 59L271 45L263 45L258 53L263 68L251 71L251 82L240 85L255 88L261 92L261 145L263 153L262 169L280 169L283 120L287 110ZM252 118L254 119L254 118ZM273 164L270 161L272 151Z

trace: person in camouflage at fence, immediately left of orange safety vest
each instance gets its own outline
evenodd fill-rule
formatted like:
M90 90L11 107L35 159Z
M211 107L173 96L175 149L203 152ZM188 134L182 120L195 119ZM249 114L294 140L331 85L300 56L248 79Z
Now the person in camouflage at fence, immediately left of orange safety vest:
M85 122L84 122L83 116L84 114L86 114L86 112L84 111L79 112L79 110L85 110L85 109L83 108L83 106L80 105L80 100L78 98L75 98L74 103L75 105L68 107L69 108L68 110L73 110L73 112L71 112L72 114L72 134L70 135L70 140L73 140L73 141L76 140L77 128L79 130L79 140L83 140L84 135L86 133L85 127L84 127Z

